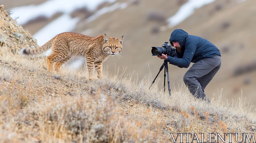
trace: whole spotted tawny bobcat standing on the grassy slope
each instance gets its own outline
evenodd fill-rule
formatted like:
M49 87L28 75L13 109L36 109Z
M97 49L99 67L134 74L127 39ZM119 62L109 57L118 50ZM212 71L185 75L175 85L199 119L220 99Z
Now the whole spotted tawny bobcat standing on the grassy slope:
M54 38L46 42L43 46L36 49L20 50L23 56L38 56L46 51L51 52L47 56L48 71L60 71L60 66L66 63L72 56L85 56L89 79L93 78L93 64L98 72L98 78L102 76L102 62L109 55L115 56L122 51L124 36L121 38L110 38L99 35L97 37L86 36L74 32L64 32L56 35Z

